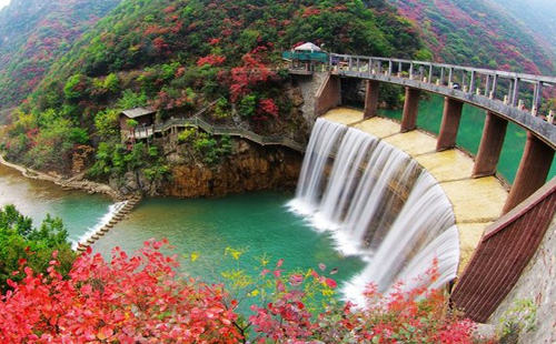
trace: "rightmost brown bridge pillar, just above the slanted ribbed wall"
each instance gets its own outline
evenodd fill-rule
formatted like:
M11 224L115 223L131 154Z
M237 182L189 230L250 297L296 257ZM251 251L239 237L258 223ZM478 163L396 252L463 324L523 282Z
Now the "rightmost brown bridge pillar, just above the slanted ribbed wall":
M516 179L504 204L503 214L513 210L540 189L546 182L554 159L554 150L540 139L527 132L525 151L517 170Z

